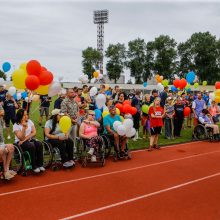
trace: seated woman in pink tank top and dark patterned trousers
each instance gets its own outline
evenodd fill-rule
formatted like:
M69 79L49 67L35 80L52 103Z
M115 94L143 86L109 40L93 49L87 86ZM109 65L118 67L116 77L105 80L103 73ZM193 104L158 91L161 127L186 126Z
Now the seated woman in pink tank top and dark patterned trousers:
M79 128L79 136L83 138L86 146L89 146L88 154L91 155L91 161L96 162L96 153L102 144L102 138L98 136L99 122L95 121L95 112L88 110L86 120L83 120Z

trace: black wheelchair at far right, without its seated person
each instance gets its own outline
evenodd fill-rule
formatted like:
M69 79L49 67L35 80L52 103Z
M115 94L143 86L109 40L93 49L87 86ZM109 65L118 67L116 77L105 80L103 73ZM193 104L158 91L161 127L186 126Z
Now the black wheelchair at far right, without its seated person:
M193 130L193 139L198 141L209 140L212 142L214 140L213 128L205 127L202 123L198 123Z

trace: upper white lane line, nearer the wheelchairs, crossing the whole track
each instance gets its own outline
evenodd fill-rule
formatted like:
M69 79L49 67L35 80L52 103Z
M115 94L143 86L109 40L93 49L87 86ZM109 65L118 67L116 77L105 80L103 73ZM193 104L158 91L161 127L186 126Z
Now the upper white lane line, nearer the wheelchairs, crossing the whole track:
M51 184L42 185L42 186L35 186L35 187L30 187L30 188L25 188L25 189L19 189L19 190L15 190L15 191L1 193L0 197L6 196L6 195L11 195L11 194L16 194L16 193L21 193L21 192L27 192L27 191L31 191L31 190L37 190L37 189L43 189L43 188L47 188L47 187L58 186L58 185L67 184L67 183L78 182L78 181L82 181L82 180L94 179L97 177L109 176L109 175L118 174L118 173L125 173L125 172L129 172L129 171L133 171L133 170L139 170L139 169L143 169L143 168L147 168L147 167L168 164L168 163L175 162L175 161L180 161L180 160L185 160L185 159L190 159L190 158L195 158L195 157L201 157L204 155L215 154L215 153L220 153L220 150L219 151L212 151L212 152L208 152L208 153L203 153L203 154L187 156L187 157L181 157L181 158L172 159L172 160L165 160L165 161L158 162L158 163L152 163L152 164L128 168L128 169L124 169L124 170L117 170L117 171L112 171L112 172L108 172L108 173L102 173L102 174L97 174L97 175L93 175L93 176L82 177L82 178L78 178L78 179L72 179L72 180L66 180L66 181L57 182L57 183L51 183Z

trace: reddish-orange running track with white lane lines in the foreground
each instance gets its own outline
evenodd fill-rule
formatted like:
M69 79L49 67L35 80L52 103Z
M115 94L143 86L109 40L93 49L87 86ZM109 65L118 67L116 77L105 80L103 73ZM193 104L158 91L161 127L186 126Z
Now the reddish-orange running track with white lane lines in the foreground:
M219 220L220 144L132 152L132 160L0 182L0 219Z

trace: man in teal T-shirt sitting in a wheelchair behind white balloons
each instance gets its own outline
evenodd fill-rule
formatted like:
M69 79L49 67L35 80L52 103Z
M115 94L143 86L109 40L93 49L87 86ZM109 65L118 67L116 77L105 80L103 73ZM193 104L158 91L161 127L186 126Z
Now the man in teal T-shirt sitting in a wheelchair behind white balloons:
M115 121L121 121L120 116L116 115L116 108L114 105L109 107L109 113L110 114L105 116L103 119L104 133L109 135L110 139L114 140L114 147L115 147L115 152L117 153L117 157L123 158L124 156L127 156L127 152L125 151L127 137L119 136L113 128L113 124ZM119 143L121 143L121 149Z

